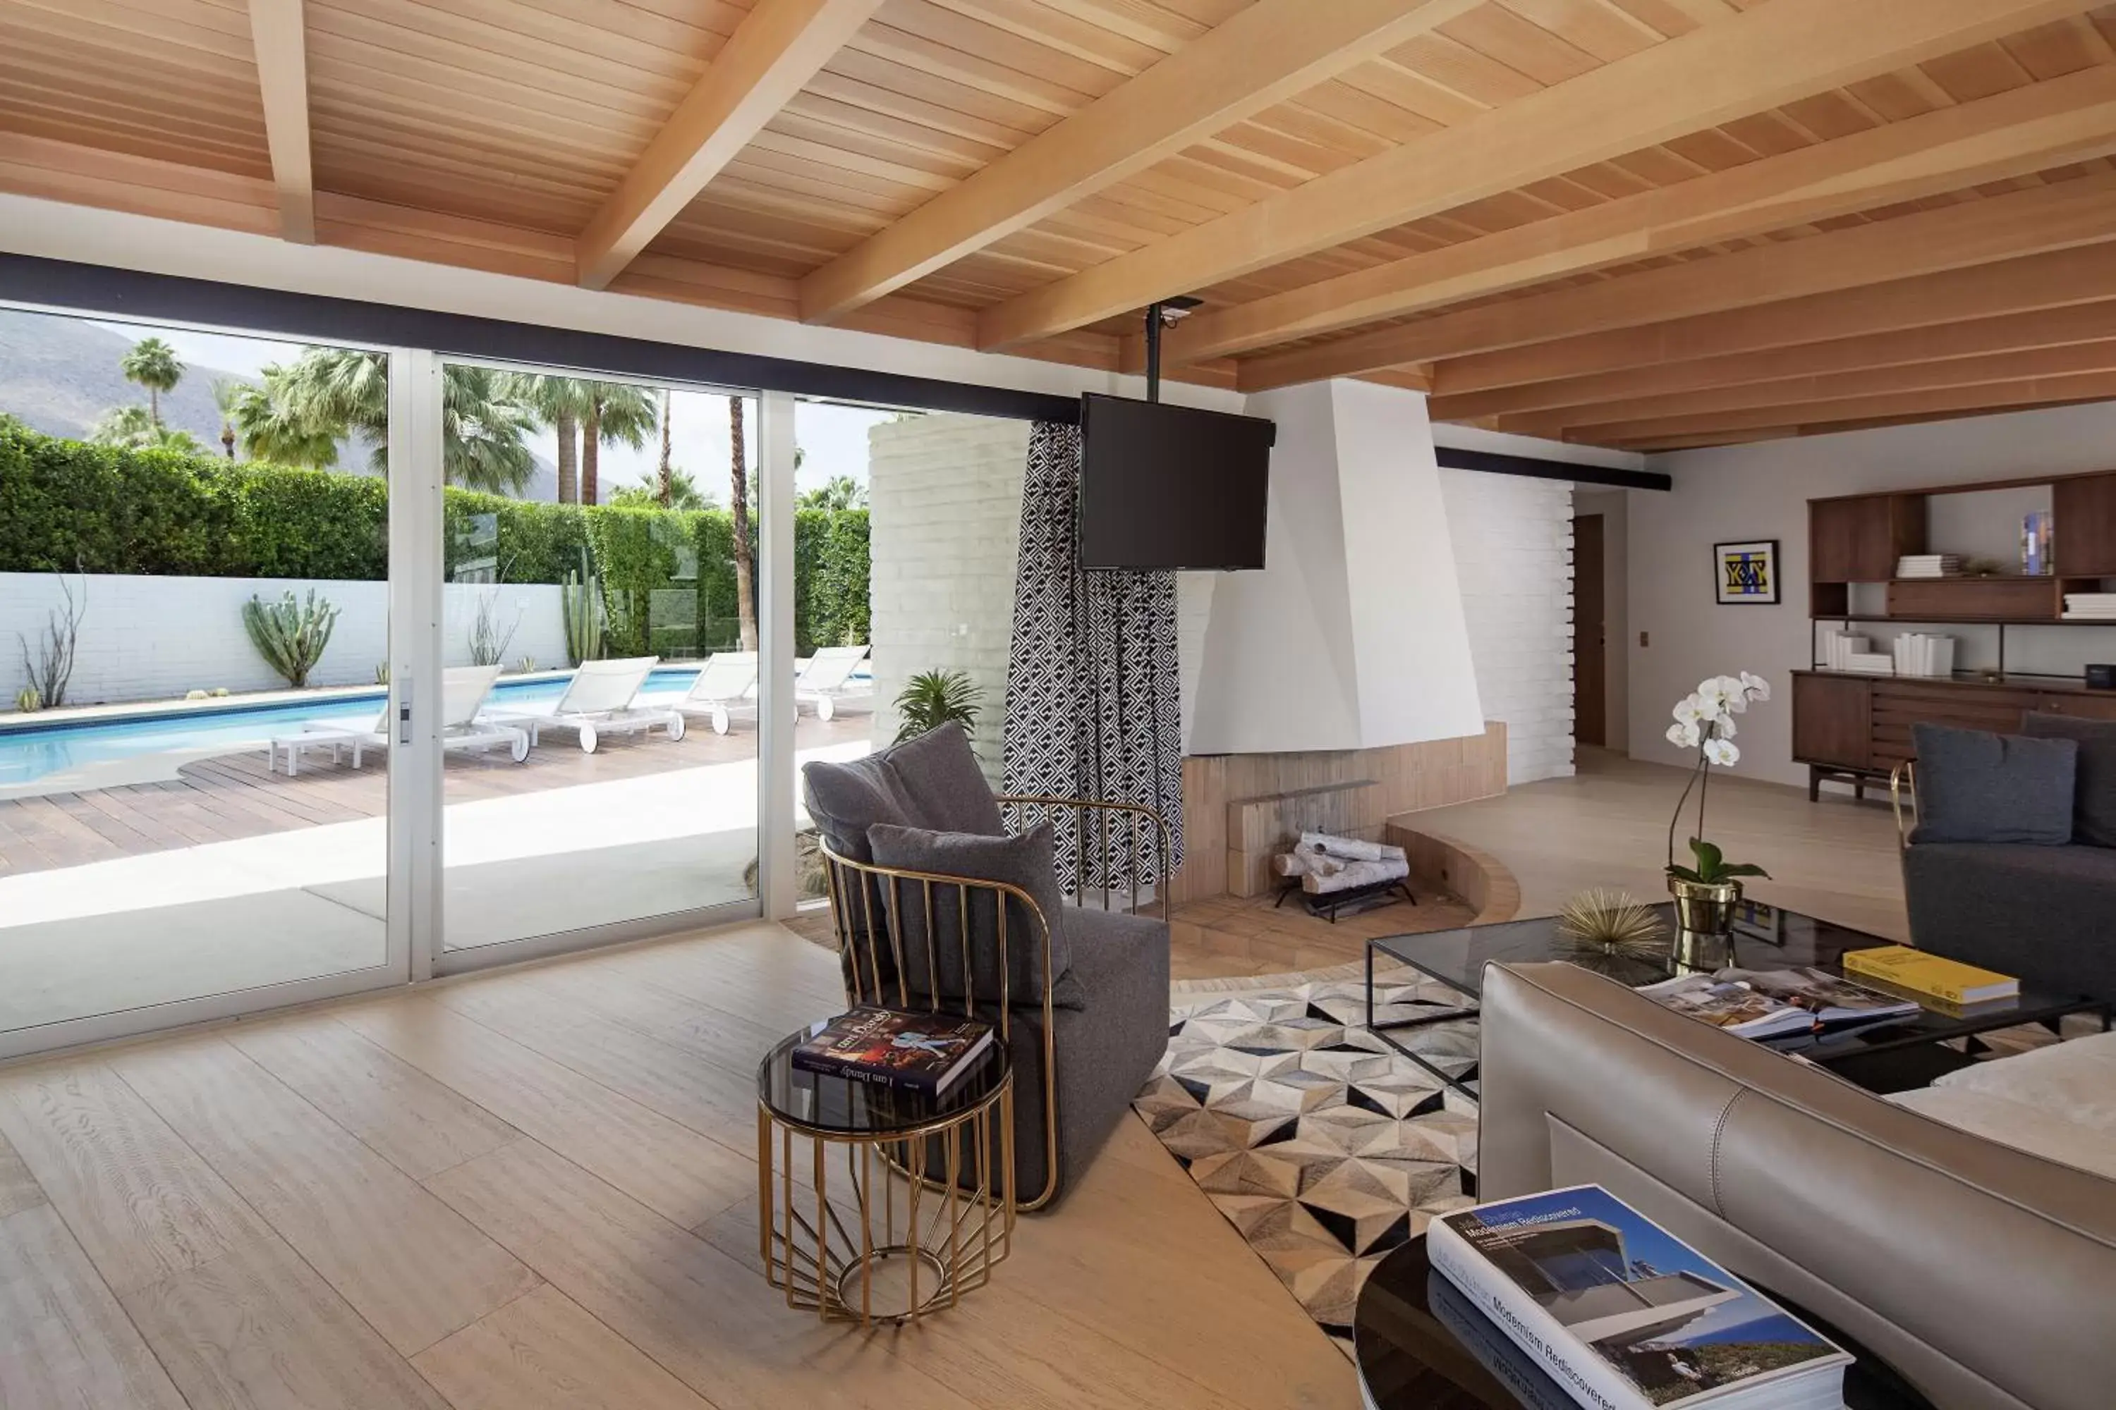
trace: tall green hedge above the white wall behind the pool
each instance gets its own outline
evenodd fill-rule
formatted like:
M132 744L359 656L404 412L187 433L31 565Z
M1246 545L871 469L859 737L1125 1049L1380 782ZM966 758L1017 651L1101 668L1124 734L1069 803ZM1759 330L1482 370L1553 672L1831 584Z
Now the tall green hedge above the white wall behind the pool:
M548 505L442 490L455 581L563 583L595 573L609 653L734 647L726 509ZM755 528L751 526L755 550ZM794 520L796 649L868 641L868 512ZM366 579L389 575L389 497L375 476L116 450L0 416L0 573Z

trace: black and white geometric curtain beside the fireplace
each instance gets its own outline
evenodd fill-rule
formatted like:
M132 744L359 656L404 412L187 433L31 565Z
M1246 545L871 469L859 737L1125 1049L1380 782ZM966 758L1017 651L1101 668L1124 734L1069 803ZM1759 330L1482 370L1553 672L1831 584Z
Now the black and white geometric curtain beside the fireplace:
M1007 793L1143 803L1168 820L1183 865L1183 700L1176 672L1176 575L1079 567L1079 427L1028 433L1022 548L1007 657ZM1147 843L1113 820L1109 846L1077 814L1052 816L1058 884L1073 890L1160 884ZM1145 841L1145 835L1141 835Z

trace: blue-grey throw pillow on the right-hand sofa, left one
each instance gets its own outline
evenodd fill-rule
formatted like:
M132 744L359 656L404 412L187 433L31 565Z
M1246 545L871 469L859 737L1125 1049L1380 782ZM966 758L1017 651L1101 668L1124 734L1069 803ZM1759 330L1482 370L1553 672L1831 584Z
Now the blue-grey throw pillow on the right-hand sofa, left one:
M2072 782L2080 746L2017 734L1913 725L1917 837L1913 841L2072 841Z

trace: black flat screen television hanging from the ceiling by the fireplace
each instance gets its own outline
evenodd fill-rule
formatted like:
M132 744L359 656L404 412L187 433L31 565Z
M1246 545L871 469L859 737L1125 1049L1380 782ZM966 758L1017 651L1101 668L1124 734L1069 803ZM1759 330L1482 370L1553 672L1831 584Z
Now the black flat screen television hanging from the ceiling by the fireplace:
M1088 393L1079 433L1079 567L1263 567L1270 421Z

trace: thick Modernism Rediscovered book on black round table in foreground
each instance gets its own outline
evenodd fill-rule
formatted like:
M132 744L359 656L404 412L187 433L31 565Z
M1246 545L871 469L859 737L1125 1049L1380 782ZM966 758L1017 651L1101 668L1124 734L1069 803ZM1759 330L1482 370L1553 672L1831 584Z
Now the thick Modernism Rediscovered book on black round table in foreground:
M1581 1406L1843 1406L1849 1353L1602 1186L1437 1216L1426 1256Z

